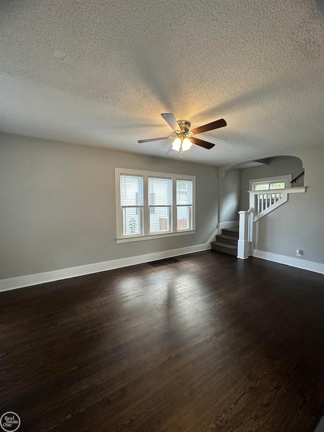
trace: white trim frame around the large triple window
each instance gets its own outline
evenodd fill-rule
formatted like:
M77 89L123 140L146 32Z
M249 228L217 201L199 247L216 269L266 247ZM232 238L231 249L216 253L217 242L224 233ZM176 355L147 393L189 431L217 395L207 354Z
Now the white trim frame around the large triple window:
M143 193L144 193L144 207L143 207L143 235L133 234L128 236L122 235L123 224L121 217L120 207L120 174L143 176ZM172 231L165 231L161 233L149 233L149 207L148 207L148 177L160 177L172 179L172 218L171 226ZM191 180L192 181L192 225L188 229L177 229L177 180ZM176 237L177 235L195 234L195 176L188 176L183 174L171 173L158 173L154 171L141 171L131 170L126 168L115 168L115 197L116 197L116 243L138 242L143 240L161 239L166 237Z

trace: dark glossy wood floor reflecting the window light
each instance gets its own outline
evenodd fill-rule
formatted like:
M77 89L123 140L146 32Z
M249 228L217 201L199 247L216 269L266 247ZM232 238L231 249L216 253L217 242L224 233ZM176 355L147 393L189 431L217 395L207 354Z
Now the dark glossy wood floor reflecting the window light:
M20 431L311 432L324 277L218 252L0 293Z

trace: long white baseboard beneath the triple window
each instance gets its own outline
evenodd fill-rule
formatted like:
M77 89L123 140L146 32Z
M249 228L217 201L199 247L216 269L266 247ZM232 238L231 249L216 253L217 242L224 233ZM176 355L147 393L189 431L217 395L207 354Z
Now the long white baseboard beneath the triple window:
M213 234L211 240L214 237L215 234ZM48 282L59 281L61 279L75 278L77 276L84 276L84 274L97 273L99 271L113 270L114 268L128 267L129 265L143 264L144 262L154 261L156 259L170 258L178 255L205 251L210 249L211 240L209 240L205 245L189 246L187 248L173 249L171 251L161 251L152 254L87 264L79 267L47 271L45 273L28 274L27 276L20 276L18 278L3 279L0 281L0 292L30 287L32 285L45 284Z

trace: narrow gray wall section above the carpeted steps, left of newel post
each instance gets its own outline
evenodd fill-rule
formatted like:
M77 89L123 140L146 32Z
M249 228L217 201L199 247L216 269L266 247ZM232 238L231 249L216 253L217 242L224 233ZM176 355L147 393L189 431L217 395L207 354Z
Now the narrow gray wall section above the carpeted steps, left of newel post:
M233 168L226 172L223 180L221 222L238 221L240 197L240 170Z

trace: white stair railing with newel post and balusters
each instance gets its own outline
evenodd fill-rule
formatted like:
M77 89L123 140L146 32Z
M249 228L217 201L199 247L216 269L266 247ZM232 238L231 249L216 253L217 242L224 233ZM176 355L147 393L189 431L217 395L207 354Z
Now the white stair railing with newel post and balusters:
M287 189L249 190L250 209L240 211L237 258L246 259L253 250L254 223L288 201L289 193L305 192L306 187Z

